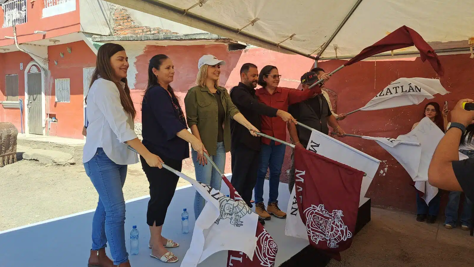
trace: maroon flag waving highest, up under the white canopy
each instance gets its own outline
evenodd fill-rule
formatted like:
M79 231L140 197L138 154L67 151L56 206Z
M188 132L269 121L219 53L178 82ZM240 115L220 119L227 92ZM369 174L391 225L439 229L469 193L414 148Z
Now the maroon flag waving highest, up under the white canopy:
M435 72L438 73L439 76L444 75L444 68L441 66L435 50L428 45L418 32L406 26L396 29L372 46L365 47L359 55L356 55L344 65L348 66L369 56L409 46L416 46L419 50L421 61L425 62L425 60L428 59L429 64L433 66Z

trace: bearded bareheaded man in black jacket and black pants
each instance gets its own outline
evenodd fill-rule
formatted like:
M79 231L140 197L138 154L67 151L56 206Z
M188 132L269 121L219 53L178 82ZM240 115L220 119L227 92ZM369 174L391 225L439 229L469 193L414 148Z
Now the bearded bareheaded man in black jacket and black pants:
M251 63L242 65L240 81L230 90L230 98L242 115L257 129L261 129L260 115L278 116L283 121L295 122L290 113L258 102L258 97L255 95L258 81L257 66ZM261 139L252 136L248 129L234 120L230 121L230 137L231 183L247 205L252 207L250 200L257 179Z

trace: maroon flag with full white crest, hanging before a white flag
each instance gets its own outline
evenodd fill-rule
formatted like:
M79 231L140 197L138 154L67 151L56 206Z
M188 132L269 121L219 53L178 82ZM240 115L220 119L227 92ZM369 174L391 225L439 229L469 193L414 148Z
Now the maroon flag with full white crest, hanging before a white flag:
M356 229L364 172L295 147L295 191L310 244L340 260Z

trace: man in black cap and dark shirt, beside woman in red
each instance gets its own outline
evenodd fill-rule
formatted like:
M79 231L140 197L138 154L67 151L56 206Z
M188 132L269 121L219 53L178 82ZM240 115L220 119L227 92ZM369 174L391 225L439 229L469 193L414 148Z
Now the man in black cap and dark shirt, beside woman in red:
M316 83L318 80L319 76L315 72L307 72L303 74L303 76L301 76L303 90L308 90L310 85ZM321 85L321 87L323 87L323 85ZM292 114L292 116L299 122L324 134L329 133L328 125L334 129L337 136L342 137L344 134L344 131L337 123L336 117L332 115L328 101L322 93L317 94L308 100L290 105L288 107L288 112L290 112L290 114ZM290 133L290 137L295 146L303 148L308 146L311 137L310 130L299 125L296 126L294 123L288 123L288 132ZM288 179L288 188L290 189L290 192L292 192L295 183L294 175L295 169L292 154L292 167Z

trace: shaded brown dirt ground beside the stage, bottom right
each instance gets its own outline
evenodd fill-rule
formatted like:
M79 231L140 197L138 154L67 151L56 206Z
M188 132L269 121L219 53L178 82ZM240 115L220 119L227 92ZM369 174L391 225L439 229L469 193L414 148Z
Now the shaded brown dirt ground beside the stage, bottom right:
M416 215L372 208L370 221L328 267L473 267L474 237L443 221L427 224ZM444 218L442 218L444 219Z

